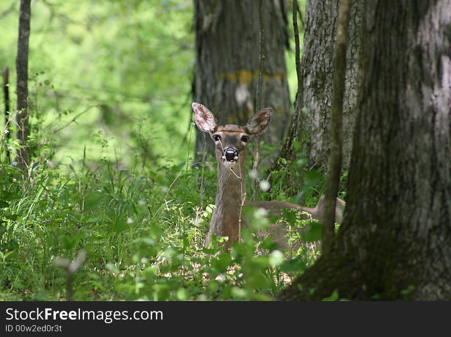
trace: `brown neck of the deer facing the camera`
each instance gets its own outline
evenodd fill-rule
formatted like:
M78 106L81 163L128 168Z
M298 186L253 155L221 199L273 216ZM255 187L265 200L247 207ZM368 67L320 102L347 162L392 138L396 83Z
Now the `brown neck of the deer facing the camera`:
M210 235L228 236L228 246L239 236L239 216L245 198L244 158L239 160L233 172L218 160L218 188L216 208L210 222ZM241 177L241 179L239 178Z

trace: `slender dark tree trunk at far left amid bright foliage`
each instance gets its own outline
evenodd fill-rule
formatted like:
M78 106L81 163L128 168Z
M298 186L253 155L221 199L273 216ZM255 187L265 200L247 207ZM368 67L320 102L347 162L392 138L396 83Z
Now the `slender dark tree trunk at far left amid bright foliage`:
M30 155L28 153L28 39L30 37L30 9L31 0L20 0L19 34L17 39L17 138L21 148L17 150L17 163L28 166Z

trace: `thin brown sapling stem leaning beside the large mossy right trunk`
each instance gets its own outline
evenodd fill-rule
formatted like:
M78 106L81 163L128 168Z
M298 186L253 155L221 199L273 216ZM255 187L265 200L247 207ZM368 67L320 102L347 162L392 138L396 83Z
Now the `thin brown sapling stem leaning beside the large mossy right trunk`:
M324 201L322 247L329 254L335 234L335 203L340 183L341 139L344 82L346 72L347 31L349 26L350 0L340 0L338 9L337 40L334 60L334 93L331 109L331 152L327 169L327 185Z

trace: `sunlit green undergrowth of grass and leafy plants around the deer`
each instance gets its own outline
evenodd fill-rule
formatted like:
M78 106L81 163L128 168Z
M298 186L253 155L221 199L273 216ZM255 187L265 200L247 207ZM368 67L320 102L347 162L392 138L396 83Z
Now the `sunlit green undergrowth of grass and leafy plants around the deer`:
M244 230L230 253L222 237L203 248L216 192L211 165L125 168L105 158L87 165L85 154L55 167L46 151L26 173L0 164L0 300L65 300L65 271L53 261L80 251L87 257L74 274L73 300L270 300L318 254L312 244L281 252L271 237L257 242ZM278 174L260 198L285 196ZM311 203L323 186L314 175ZM247 211L258 228L269 225ZM292 233L305 225L287 219Z

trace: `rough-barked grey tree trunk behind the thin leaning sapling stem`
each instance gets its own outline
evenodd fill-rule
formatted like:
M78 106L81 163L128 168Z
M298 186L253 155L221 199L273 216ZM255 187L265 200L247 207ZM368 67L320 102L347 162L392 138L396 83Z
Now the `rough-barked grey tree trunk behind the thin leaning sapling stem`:
M343 102L343 169L349 167L357 103L357 73L363 1L353 1L346 52L345 94ZM309 142L310 167L326 166L330 151L330 116L333 93L334 46L338 21L338 0L308 0L304 23L300 97L292 118L288 138L280 157L293 162L297 150L293 142ZM273 170L277 166L273 165Z

